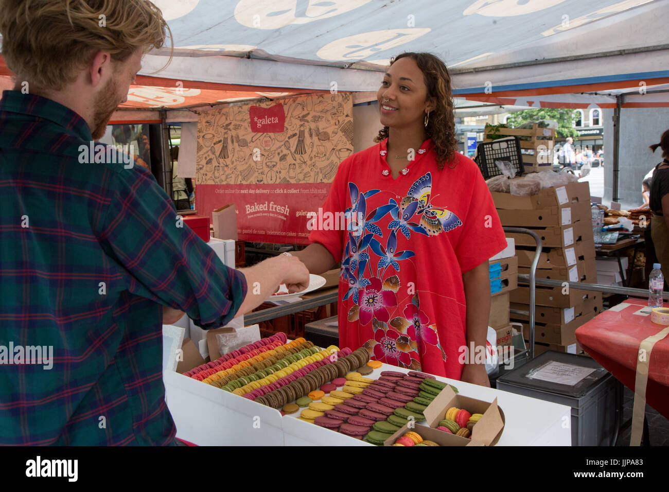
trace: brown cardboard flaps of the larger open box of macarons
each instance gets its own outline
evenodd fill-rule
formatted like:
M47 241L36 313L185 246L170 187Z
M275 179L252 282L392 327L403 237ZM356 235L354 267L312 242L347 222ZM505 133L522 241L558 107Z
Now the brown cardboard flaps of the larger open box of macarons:
M502 410L497 406L497 398L492 403L476 400L468 396L456 394L453 388L446 386L436 396L434 400L423 410L427 425L436 428L439 422L444 419L446 410L456 406L464 408L472 414L483 414L481 419L476 422L472 432L472 442L475 440L482 442L485 446L494 446L502 435L504 429L504 417ZM480 425L481 424L481 425ZM460 439L464 437L454 436Z

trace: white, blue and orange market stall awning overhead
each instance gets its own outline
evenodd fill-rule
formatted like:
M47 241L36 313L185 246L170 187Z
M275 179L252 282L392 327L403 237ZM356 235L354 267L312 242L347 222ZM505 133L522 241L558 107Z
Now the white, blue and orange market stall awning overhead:
M169 50L145 57L131 107L377 90L379 72L405 51L437 54L452 70L456 96L495 104L611 107L615 91L669 84L669 0L155 3L173 33L174 58L157 73ZM666 104L658 96L628 102Z

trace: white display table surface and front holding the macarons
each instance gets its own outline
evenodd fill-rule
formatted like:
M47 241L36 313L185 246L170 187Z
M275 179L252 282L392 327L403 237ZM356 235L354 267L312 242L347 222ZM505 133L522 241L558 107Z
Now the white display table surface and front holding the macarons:
M382 371L409 372L384 364ZM571 408L474 384L437 377L460 394L492 402L497 398L506 424L496 446L571 446ZM274 408L219 390L175 372L163 374L165 399L177 437L201 446L373 446L304 422L300 412L281 416Z

